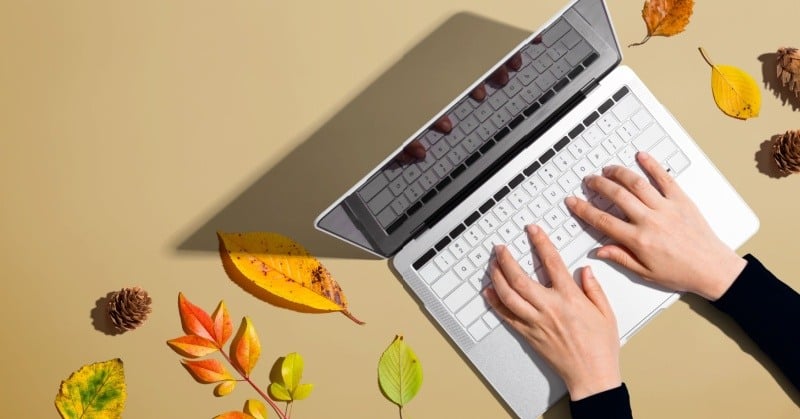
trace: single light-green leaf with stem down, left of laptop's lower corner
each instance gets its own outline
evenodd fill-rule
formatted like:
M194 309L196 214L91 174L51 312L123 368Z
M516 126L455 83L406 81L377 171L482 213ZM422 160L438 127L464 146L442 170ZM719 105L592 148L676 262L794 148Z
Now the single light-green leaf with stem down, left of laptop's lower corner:
M383 395L400 407L411 401L422 386L422 365L400 335L395 336L378 361L378 384Z

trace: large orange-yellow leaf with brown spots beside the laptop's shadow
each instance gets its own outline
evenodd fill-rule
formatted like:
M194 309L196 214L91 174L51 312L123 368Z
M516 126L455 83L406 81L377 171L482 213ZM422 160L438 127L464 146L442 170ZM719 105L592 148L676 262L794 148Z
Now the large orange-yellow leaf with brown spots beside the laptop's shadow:
M303 313L342 312L358 324L330 272L300 244L277 233L217 233L222 266L240 287Z

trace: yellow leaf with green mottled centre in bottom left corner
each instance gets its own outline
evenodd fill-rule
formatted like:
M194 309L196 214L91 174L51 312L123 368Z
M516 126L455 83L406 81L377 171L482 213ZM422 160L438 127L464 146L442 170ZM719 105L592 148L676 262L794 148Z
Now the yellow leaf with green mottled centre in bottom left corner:
M122 417L127 392L122 360L84 365L61 382L56 409L62 418L115 419Z

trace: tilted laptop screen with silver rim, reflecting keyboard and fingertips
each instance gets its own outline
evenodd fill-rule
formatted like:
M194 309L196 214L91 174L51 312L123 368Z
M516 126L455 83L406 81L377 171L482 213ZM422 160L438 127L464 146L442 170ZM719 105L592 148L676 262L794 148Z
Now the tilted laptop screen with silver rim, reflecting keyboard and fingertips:
M469 46L455 47L469 54ZM536 141L620 60L604 2L573 2L402 142L320 215L317 228L394 255Z

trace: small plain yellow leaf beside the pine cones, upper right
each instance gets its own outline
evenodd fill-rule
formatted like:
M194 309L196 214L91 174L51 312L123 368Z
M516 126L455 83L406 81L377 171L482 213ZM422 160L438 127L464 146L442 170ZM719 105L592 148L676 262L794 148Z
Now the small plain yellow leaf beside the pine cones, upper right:
M753 77L734 66L713 64L706 51L699 49L711 66L711 92L719 109L738 119L757 117L761 110L761 90Z

